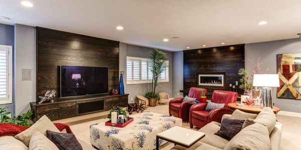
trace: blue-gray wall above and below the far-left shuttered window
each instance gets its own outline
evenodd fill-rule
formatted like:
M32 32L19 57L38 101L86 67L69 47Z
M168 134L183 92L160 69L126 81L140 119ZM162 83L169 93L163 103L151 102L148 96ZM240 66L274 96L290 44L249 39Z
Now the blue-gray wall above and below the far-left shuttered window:
M13 46L14 51L14 26L0 23L0 44ZM13 91L14 92L14 91ZM13 103L0 104L0 107L7 106L8 111L14 114L14 98Z

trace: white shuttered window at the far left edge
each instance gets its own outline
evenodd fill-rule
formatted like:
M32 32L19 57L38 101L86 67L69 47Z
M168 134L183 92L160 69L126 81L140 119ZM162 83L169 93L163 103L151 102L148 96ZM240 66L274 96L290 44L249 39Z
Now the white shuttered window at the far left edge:
M0 104L12 103L12 48L0 45Z

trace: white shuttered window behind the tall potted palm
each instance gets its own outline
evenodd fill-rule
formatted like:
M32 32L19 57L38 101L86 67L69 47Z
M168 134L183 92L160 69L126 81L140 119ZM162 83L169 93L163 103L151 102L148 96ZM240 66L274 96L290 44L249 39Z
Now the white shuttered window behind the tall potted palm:
M151 83L153 73L147 65L148 58L141 57L126 57L126 84ZM166 62L169 64L169 61ZM164 68L158 82L169 81L169 65Z

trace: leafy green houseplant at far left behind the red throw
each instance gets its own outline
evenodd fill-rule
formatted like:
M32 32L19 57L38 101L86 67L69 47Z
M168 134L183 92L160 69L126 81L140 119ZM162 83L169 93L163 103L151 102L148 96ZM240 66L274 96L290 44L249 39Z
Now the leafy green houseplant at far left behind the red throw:
M12 123L22 126L31 126L29 119L33 116L33 110L29 109L26 113L23 113L18 116L10 117L11 112L7 111L8 107L0 108L0 123Z

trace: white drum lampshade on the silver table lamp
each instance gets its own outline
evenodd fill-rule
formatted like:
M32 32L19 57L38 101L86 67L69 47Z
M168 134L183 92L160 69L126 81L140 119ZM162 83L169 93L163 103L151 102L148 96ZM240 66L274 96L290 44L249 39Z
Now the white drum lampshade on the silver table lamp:
M254 74L253 86L279 87L278 74Z

